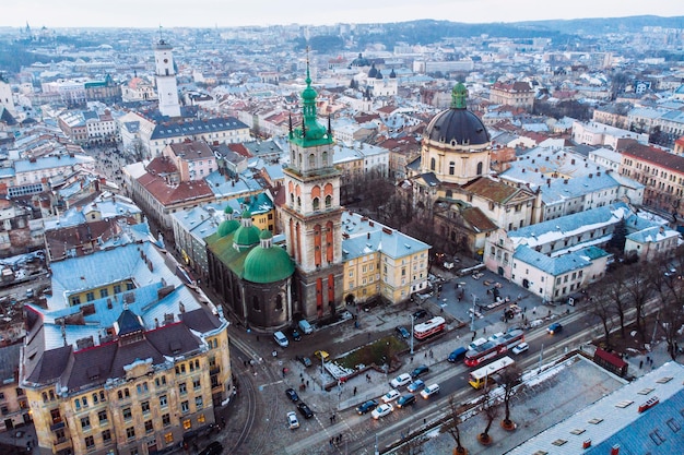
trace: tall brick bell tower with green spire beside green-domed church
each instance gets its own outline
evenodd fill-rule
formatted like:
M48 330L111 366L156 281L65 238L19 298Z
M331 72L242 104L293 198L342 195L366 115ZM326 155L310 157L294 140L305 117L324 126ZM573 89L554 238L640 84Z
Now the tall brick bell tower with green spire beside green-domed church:
M333 314L343 291L340 171L332 161L330 121L326 128L317 119L317 96L307 58L302 125L290 127L282 212L287 252L296 263L294 311L306 319Z

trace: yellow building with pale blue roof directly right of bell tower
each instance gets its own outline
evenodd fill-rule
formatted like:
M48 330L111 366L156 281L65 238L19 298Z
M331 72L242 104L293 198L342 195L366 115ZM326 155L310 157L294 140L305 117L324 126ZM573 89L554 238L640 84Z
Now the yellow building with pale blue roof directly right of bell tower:
M429 246L358 214L342 215L344 301L404 301L427 288Z

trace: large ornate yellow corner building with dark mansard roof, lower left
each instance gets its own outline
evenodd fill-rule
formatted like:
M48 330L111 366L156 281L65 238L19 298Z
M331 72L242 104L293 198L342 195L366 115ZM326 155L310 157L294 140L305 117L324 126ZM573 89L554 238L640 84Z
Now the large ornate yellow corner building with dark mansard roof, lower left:
M52 264L20 370L42 454L145 455L213 423L233 393L228 323L168 261L145 242Z

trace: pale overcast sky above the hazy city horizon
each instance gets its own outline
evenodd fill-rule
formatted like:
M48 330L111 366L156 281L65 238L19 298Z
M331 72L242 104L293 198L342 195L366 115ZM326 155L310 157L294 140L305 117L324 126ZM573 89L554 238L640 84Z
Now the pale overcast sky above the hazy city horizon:
M5 0L0 26L227 27L684 15L684 0ZM682 24L684 27L684 24Z

